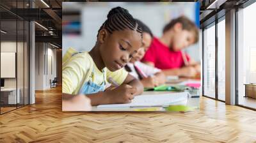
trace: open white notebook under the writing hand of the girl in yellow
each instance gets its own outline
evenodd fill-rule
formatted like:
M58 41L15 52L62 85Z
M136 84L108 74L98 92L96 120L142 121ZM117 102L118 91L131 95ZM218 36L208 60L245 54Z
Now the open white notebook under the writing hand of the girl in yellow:
M165 93L165 94L143 94L135 96L131 103L98 105L97 108L122 108L122 107L166 107L168 105L186 105L188 92ZM177 103L177 104L175 104Z

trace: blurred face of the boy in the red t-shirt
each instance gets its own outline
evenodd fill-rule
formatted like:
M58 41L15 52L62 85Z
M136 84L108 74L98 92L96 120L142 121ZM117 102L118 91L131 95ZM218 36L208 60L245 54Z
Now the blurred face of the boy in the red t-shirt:
M194 35L191 31L180 28L175 29L174 33L175 34L173 34L172 37L172 45L170 45L173 51L185 49L195 42Z

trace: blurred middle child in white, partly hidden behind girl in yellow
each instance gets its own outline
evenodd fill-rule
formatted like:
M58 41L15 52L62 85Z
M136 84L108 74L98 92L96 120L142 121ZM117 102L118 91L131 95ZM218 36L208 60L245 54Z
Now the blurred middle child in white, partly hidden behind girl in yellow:
M136 20L143 31L142 47L138 50L138 54L132 57L130 63L125 66L125 70L127 70L127 72L132 76L136 77L136 79L140 79L144 87L159 86L165 82L164 73L162 73L160 69L154 68L140 61L152 42L153 34L148 26L140 20Z

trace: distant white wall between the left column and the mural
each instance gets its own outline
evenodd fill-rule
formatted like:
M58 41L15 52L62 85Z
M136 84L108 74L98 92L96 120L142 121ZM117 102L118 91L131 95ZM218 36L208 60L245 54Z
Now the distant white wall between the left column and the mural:
M49 43L36 43L35 90L51 88L50 79L56 77L56 49L53 48Z

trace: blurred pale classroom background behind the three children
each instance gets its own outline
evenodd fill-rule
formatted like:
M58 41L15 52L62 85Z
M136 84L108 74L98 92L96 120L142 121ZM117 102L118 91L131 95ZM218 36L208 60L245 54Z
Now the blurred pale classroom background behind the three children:
M78 51L90 51L97 40L100 26L107 19L108 11L116 6L129 10L131 15L147 24L154 36L163 34L163 27L170 20L185 15L199 26L198 3L63 3L62 20L62 55L69 47ZM198 43L192 45L186 52L201 61L202 47Z

